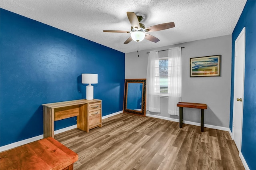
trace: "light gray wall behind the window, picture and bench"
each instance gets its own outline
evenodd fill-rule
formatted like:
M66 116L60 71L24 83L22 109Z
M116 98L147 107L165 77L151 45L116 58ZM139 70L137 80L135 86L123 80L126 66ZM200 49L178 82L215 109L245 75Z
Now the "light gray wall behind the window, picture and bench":
M204 123L229 127L230 119L230 84L231 84L231 43L232 37L221 36L193 42L180 43L154 49L125 54L125 78L146 78L148 53L152 50L164 50L170 47L182 48L182 101L206 103ZM190 58L209 55L221 55L220 77L190 77ZM168 51L160 51L160 57L168 56ZM161 98L161 113L149 113L162 117L178 119L168 115L167 98ZM199 109L184 109L184 120L200 123Z

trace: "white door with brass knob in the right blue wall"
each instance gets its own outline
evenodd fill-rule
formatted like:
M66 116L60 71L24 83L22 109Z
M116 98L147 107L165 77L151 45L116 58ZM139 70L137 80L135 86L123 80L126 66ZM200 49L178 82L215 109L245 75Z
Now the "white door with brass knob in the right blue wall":
M233 139L241 152L244 104L245 27L235 41Z

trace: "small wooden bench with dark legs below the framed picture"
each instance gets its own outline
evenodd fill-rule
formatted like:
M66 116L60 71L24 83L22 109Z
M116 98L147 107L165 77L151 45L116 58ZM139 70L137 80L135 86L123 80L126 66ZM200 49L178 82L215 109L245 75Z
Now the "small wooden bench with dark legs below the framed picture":
M204 109L207 109L206 104L179 102L177 106L180 107L180 128L183 124L183 107L201 109L201 132L204 132Z

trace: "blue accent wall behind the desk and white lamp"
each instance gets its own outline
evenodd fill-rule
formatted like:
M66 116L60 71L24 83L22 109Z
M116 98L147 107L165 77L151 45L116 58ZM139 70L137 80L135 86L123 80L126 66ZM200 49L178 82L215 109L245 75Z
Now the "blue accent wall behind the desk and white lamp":
M84 99L82 73L98 74L102 116L123 110L124 53L2 8L0 17L0 146L43 134L42 104Z

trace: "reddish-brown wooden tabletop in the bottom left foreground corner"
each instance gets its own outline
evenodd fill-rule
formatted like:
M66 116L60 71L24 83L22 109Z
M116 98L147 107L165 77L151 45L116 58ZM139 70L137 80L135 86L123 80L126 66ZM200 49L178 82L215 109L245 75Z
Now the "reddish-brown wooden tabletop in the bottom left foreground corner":
M73 170L78 154L52 137L0 153L1 170Z

